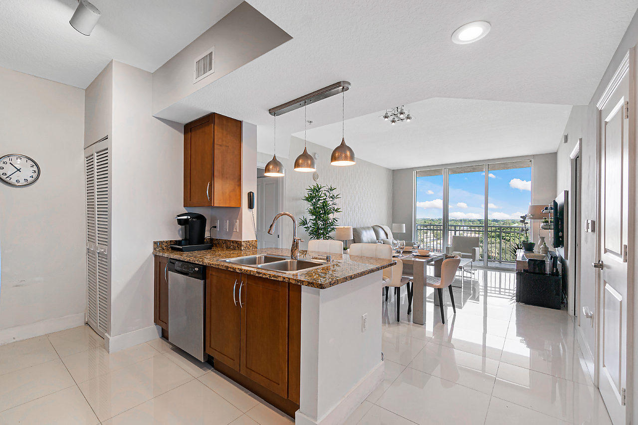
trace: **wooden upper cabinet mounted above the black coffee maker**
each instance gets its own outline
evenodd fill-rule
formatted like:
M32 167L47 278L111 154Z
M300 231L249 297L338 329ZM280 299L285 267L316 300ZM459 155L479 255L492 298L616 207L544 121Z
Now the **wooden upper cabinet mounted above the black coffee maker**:
M184 206L241 206L241 127L218 113L184 126Z

